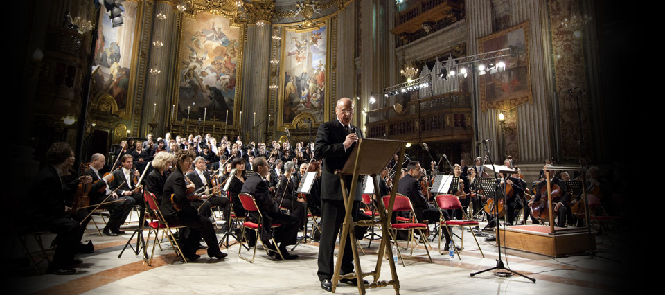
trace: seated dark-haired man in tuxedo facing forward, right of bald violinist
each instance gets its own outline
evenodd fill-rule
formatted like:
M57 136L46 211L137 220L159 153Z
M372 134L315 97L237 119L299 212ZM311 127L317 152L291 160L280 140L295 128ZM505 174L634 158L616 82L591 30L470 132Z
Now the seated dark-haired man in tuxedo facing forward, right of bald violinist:
M116 169L113 172L113 180L109 183L109 188L112 191L116 191L116 194L121 197L126 197L127 199L134 199L134 204L141 207L139 210L143 210L143 195L141 193L136 193L136 183L134 182L134 177L138 179L141 175L139 171L132 169L134 166L134 159L130 154L125 154L120 158L121 168ZM127 202L127 201L125 201ZM132 204L132 206L134 205ZM130 207L130 211L131 211ZM126 218L127 216L125 216ZM117 224L113 224L114 227L107 225L104 229L104 233L108 235L109 231L113 231L116 234L123 234L125 231L120 230L120 225L125 222L125 220L118 220Z

